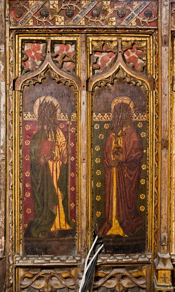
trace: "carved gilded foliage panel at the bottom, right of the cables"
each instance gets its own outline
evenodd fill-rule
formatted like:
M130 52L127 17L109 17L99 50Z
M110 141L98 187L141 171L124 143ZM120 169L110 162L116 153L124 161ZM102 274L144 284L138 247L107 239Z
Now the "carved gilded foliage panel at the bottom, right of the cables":
M146 267L119 268L113 269L109 273L102 269L95 274L93 289L94 291L102 291L100 290L102 287L106 288L103 291L112 292L146 291ZM134 287L137 287L137 290L133 290Z

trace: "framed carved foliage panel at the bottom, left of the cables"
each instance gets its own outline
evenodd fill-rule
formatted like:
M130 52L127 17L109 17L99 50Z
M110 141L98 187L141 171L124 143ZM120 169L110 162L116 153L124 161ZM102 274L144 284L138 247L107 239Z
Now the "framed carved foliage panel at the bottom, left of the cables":
M16 289L16 291L77 291L77 268L75 267L19 267L18 269L19 290Z

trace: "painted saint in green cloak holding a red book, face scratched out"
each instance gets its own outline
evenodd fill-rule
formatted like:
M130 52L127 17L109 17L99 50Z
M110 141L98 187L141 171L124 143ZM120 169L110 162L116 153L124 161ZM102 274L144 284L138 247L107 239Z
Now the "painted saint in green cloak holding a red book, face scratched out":
M52 100L53 99L53 100ZM39 100L38 132L30 145L31 183L33 189L34 219L31 226L33 237L48 237L54 230L70 229L67 218L65 171L70 152L62 131L57 126L59 103L52 97ZM61 167L65 165L65 168ZM60 176L62 185L60 185Z

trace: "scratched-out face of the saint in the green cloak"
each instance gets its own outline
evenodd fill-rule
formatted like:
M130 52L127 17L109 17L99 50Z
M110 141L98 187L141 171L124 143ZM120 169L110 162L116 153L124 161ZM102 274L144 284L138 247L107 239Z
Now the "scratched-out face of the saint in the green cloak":
M58 108L59 105L54 105L53 101L46 100L46 98L40 102L38 107L38 127L41 129L45 141L51 138L56 142L57 131L59 131L56 118Z

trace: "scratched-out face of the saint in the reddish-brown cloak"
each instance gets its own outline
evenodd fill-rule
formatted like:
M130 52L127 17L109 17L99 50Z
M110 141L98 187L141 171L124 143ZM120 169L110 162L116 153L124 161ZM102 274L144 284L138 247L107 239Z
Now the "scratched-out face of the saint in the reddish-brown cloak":
M133 127L130 104L120 102L114 106L112 112L112 131L116 136L118 136L120 130L122 135L123 128L126 128L127 131L129 127Z

